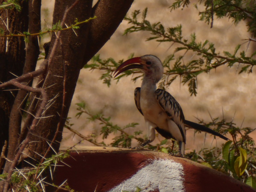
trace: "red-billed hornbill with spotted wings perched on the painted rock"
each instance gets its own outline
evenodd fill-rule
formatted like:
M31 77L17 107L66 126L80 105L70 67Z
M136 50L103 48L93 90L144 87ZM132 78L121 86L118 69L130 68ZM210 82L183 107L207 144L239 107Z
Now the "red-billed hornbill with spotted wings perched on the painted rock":
M134 91L134 99L138 110L144 116L148 131L148 140L136 148L142 148L151 143L155 138L156 130L166 139L176 140L179 144L178 155L184 156L185 127L205 131L229 140L204 125L185 120L182 109L175 98L165 90L157 89L156 84L163 76L163 64L159 58L154 55L144 55L128 59L116 69L114 77L131 69L140 69L144 73L141 87L137 87Z

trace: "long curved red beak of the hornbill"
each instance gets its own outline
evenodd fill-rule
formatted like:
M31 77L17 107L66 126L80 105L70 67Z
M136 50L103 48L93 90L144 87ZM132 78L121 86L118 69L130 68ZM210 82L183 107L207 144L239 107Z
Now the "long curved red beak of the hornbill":
M127 61L120 64L119 67L117 67L117 69L114 72L114 78L126 70L145 69L144 66L145 66L145 61L141 60L140 57L134 57L134 58L128 59Z

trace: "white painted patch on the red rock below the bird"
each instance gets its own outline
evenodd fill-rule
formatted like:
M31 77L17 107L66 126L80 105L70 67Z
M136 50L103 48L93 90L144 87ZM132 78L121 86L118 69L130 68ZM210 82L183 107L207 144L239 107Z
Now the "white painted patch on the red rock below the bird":
M173 160L153 160L110 192L132 192L136 191L137 187L143 192L156 189L160 192L184 192L183 176L183 166L180 163Z

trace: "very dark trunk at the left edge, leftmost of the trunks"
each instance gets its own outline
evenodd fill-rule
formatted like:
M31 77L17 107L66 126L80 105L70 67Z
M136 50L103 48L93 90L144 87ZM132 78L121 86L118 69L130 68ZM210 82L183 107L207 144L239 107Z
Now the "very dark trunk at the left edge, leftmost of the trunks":
M4 0L0 0L2 4ZM0 9L0 28L5 30L5 34L18 34L28 30L28 2L20 2L22 10ZM8 17L8 20L7 20ZM7 27L8 26L8 29ZM20 76L25 64L25 42L24 38L0 38L0 82L6 82L10 79ZM17 89L16 87L9 87ZM9 131L17 136L17 132L9 130L9 118L12 105L15 101L17 90L0 91L0 151L5 141L9 140ZM7 154L7 149L6 149ZM3 168L3 159L0 159L0 170ZM0 171L1 172L1 171Z

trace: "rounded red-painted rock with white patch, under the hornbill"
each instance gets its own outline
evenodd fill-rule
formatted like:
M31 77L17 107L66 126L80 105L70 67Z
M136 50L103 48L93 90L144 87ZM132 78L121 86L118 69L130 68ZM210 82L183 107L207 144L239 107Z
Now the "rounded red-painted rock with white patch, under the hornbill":
M199 163L161 152L76 146L55 171L75 191L255 192L250 186Z

